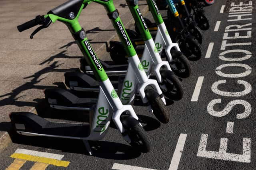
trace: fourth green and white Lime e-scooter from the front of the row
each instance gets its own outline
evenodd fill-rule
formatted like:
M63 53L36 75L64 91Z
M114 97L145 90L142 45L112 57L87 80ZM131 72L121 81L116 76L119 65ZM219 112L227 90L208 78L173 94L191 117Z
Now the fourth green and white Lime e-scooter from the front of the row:
M156 21L157 33L154 35L155 39L155 47L154 49L159 53L161 57L165 57L169 62L172 71L181 78L186 78L190 76L191 68L190 62L186 57L180 52L180 47L177 43L173 43L170 35L167 31L166 25L162 19L161 14L154 1L148 0L148 6L154 20ZM138 20L134 18L135 20ZM146 21L144 20L146 24ZM137 24L136 24L137 25ZM146 24L147 25L147 24ZM137 26L136 26L137 27ZM147 27L148 28L148 27ZM148 29L147 31L149 31ZM129 37L132 37L133 44L135 45L143 45L144 39L140 36L140 34L128 29ZM110 57L113 61L117 63L126 63L127 57L122 52L122 45L117 41L110 41ZM136 48L136 52L138 54L142 54L144 48Z

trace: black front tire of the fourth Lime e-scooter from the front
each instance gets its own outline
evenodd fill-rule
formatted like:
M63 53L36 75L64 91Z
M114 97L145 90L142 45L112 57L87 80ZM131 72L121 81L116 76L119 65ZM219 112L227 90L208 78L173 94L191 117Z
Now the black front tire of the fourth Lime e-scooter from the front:
M187 78L191 74L190 61L183 55L182 52L173 50L171 51L172 61L169 61L170 67L174 74L181 78Z

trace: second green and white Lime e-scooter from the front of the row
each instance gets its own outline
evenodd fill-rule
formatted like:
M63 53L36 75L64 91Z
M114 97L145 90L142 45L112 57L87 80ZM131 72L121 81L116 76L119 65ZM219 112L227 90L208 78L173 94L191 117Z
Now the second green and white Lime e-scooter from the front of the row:
M95 2L102 2L102 0L97 0ZM103 3L104 2L104 3ZM102 3L99 4L103 4L105 8L107 8L108 11L111 11L112 9L112 4L110 3L110 1L103 1ZM161 88L158 85L158 82L156 80L151 80L148 79L148 76L146 74L146 72L143 69L142 64L140 63L140 60L138 59L138 56L136 54L136 51L134 50L134 47L132 45L132 43L130 42L130 39L126 33L126 30L124 29L124 26L122 25L122 22L119 18L119 13L117 10L115 10L114 12L108 14L109 18L112 21L112 24L114 25L123 45L125 46L125 51L126 53L129 55L129 64L127 66L127 72L126 72L126 76L124 79L120 79L120 87L116 87L118 88L119 93L118 95L120 96L120 100L123 104L133 104L134 102L134 98L136 96L136 94L140 94L140 97L142 99L142 102L144 104L144 106L146 106L148 108L148 110L150 112L152 112L159 121L161 121L162 123L168 123L169 121L169 113L168 110L165 106L166 101L164 98L164 95L161 91L162 89L167 89L166 86L170 86L169 82L162 82L161 84ZM99 61L97 61L99 62ZM88 61L87 61L88 63ZM88 63L89 64L89 63ZM104 68L101 65L102 68ZM168 70L164 71L163 73L166 76L170 75L168 73ZM83 85L87 85L87 79L84 79L85 76L79 74L79 73L66 73L65 75L65 82L67 86L72 86L72 87L77 87L82 91L90 90L90 88L95 89L95 87L88 87L88 86L78 86L78 81L84 81L85 83L83 83ZM77 78L74 78L75 76L77 76ZM172 75L171 75L172 76ZM69 78L70 77L70 78ZM75 81L77 80L77 81ZM162 80L164 81L164 80ZM176 87L176 86L175 86ZM180 86L178 86L180 87ZM180 88L178 88L180 90ZM76 88L76 89L77 89ZM71 88L72 89L72 88ZM74 88L72 89L74 90ZM98 88L99 90L99 88ZM96 91L98 91L96 90ZM177 90L178 91L178 90ZM178 91L180 92L180 91ZM182 96L183 95L183 91L180 92ZM174 94L172 94L174 95ZM70 94L70 96L72 96L72 94ZM178 96L178 95L177 95ZM80 107L72 106L70 105L70 102L67 102L67 104L65 104L66 101L70 100L69 98L66 98L66 96L64 96L63 93L59 93L58 91L56 91L55 93L53 92L48 92L48 90L45 90L45 97L46 100L48 101L50 107L53 107L55 109L82 109ZM60 103L61 105L56 104Z

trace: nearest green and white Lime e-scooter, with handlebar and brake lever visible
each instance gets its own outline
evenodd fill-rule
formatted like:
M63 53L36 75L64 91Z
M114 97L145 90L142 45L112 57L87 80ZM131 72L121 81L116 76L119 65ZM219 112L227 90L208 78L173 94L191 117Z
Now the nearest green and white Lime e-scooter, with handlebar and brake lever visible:
M86 61L89 63L94 75L99 81L100 92L98 95L98 101L96 105L90 107L91 111L94 110L92 121L90 121L90 124L55 123L47 121L33 113L21 112L10 114L12 125L16 132L21 135L83 140L86 149L90 154L92 154L88 140L97 141L103 139L107 133L110 119L112 118L123 138L128 141L130 145L136 147L142 152L149 152L150 140L138 121L138 117L134 112L134 109L131 105L123 105L120 98L118 98L116 91L114 90L86 37L86 32L78 22L82 9L90 2L90 0L69 0L68 2L50 10L47 15L36 16L35 19L19 25L18 30L21 32L36 25L41 25L31 34L30 38L33 38L38 31L47 28L55 21L61 21L68 26L74 39L77 41L80 50L84 54ZM115 18L112 19L112 21L116 28L123 27L120 18L116 14L113 0L94 0L94 2L105 6L110 18ZM126 42L130 42L129 39ZM134 57L130 57L130 62L134 63L136 67L140 67L141 64L133 47L129 46L129 48L134 52L132 53ZM144 73L142 70L141 72ZM146 77L146 75L144 77Z

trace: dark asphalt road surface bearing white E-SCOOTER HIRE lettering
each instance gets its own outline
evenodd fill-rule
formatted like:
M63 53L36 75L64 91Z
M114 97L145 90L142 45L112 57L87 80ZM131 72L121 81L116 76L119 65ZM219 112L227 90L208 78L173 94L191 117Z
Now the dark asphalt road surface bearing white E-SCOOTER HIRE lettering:
M168 124L134 106L146 122L151 152L136 152L114 128L103 141L90 142L93 156L82 141L18 136L0 154L0 169L14 164L23 165L21 170L256 169L255 6L249 0L218 0L204 8L211 27L203 31L203 56L191 62L192 75L182 80L184 98L169 102ZM58 154L62 162L22 162L10 157L17 149Z

